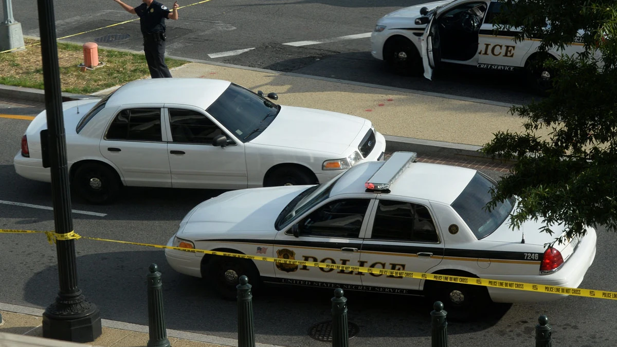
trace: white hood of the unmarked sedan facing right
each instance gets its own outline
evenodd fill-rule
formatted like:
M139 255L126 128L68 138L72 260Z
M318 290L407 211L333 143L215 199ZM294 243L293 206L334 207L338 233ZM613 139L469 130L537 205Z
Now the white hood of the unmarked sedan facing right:
M250 143L342 154L370 126L355 115L281 105L275 120Z

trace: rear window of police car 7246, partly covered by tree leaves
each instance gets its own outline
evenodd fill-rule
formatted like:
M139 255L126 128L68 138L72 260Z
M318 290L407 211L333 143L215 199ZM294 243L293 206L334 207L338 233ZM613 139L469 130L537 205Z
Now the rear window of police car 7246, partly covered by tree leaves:
M514 207L514 198L497 203L489 212L484 209L491 201L491 188L494 183L486 176L476 172L469 184L465 187L458 198L452 203L452 207L461 216L467 226L481 239L491 235L508 218Z

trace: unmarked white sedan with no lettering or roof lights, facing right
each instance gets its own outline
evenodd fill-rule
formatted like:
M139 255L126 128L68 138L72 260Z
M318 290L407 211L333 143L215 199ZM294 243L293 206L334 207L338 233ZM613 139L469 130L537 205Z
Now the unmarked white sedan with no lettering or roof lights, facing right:
M64 102L72 190L106 203L122 186L310 185L383 158L386 140L370 120L268 98L223 80L155 78L100 100ZM41 159L46 128L43 111L15 154L17 174L51 182Z

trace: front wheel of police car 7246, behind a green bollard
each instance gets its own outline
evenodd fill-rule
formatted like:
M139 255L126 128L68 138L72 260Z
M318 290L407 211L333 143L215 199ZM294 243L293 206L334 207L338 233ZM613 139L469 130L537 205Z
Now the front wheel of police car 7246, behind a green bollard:
M237 298L236 285L242 275L249 278L253 292L259 288L259 272L248 259L213 256L205 274L205 279L212 283L214 289L224 299L235 300Z

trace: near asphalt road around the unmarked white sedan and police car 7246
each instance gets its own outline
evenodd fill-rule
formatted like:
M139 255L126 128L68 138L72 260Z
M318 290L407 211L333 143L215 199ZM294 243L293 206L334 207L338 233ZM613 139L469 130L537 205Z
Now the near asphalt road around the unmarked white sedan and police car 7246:
M10 107L12 106L12 107ZM35 115L42 106L15 107L0 100L0 114ZM28 120L0 117L0 200L52 206L51 185L15 174L12 157ZM488 172L498 177L496 172ZM164 245L181 218L211 190L130 189L115 204L73 201L75 231L84 236ZM83 214L96 212L105 215ZM53 230L52 211L0 203L0 228ZM43 235L0 235L0 302L44 308L58 290L56 249ZM207 282L176 274L163 251L117 243L77 240L79 285L104 319L147 325L146 274L151 263L163 274L168 328L236 338L236 306L219 299ZM598 230L595 262L581 288L615 290L615 235ZM259 343L327 346L307 335L329 319L331 290L271 288L255 293L255 334ZM349 321L360 328L351 346L428 346L430 309L421 299L346 293ZM557 302L496 306L473 322L449 322L449 343L458 347L533 346L540 314L553 324L554 346L617 346L613 300L570 297Z

